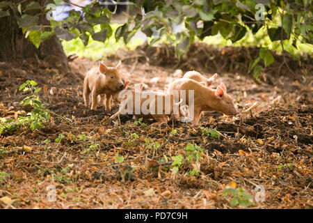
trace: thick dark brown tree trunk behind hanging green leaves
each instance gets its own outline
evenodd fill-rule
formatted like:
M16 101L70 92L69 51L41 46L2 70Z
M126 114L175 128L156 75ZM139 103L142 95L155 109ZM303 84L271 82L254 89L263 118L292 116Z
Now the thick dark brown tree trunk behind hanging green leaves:
M18 1L20 0L13 0L13 2ZM41 1L41 3L43 2ZM29 1L23 3L22 8L28 3ZM39 23L49 24L45 15L40 16ZM17 25L17 17L11 9L10 16L0 18L0 61L15 61L25 58L45 59L61 72L69 69L60 40L56 36L51 36L37 49L29 38L25 38L22 29Z

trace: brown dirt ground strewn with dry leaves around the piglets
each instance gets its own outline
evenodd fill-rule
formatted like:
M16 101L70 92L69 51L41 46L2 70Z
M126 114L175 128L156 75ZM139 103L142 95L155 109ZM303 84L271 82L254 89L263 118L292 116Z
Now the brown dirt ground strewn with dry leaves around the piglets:
M123 56L122 72L131 84L164 89L175 79L177 64L155 66L132 53ZM117 57L106 63L114 65ZM230 197L223 197L227 186L243 187L255 197L257 185L264 186L265 200L249 208L313 207L312 75L294 79L266 72L264 78L275 79L274 86L257 84L243 71L220 72L214 87L224 82L241 111L254 102L259 106L236 117L205 114L199 127L176 122L177 133L172 135L172 123L146 129L134 125L131 116L122 116L121 125L107 124L118 105L111 113L102 107L95 112L84 107L83 75L96 65L76 59L70 63L72 71L62 74L44 61L0 63L1 117L30 111L18 105L25 97L18 88L33 79L41 87L47 85L47 92L40 91L47 108L71 122L54 116L46 128L0 135L0 148L8 152L0 156L0 171L10 174L0 180L0 208L231 208ZM203 70L199 69L209 77ZM156 84L150 83L153 77L160 77ZM216 128L222 135L214 139L202 135L201 128ZM58 144L55 139L60 133L65 139ZM131 137L133 133L138 139ZM79 140L79 134L90 139ZM69 135L76 139L68 140ZM159 142L160 148L147 148L146 138ZM45 144L45 139L51 142ZM176 175L170 171L170 157L184 155L188 143L204 149L198 177L188 175L188 162ZM92 144L99 146L90 148ZM117 152L125 158L120 164ZM56 186L56 202L46 199L48 185Z

